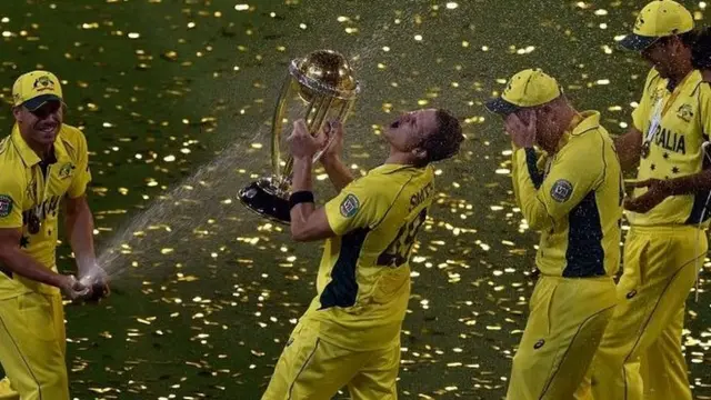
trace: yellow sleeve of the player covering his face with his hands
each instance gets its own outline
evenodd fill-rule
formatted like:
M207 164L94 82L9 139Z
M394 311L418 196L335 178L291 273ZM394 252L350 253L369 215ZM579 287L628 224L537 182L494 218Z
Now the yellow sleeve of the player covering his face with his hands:
M588 134L594 136L593 132ZM570 143L552 159L548 174L535 166L532 149L513 153L517 201L531 229L544 230L564 218L604 177L603 140ZM600 151L592 148L598 147Z

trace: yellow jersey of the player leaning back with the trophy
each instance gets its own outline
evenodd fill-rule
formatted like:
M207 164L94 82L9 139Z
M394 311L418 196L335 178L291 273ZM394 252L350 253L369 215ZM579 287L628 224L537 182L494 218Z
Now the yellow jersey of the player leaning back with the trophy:
M410 252L434 196L431 167L384 164L326 204L328 239L318 294L302 321L333 344L387 348L400 340L410 297Z

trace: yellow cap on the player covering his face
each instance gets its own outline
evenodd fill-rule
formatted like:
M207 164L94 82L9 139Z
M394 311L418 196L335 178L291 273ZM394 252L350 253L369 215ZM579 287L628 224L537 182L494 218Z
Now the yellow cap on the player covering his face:
M562 93L555 79L540 69L527 69L514 74L503 93L487 101L484 107L491 112L508 116L522 108L545 104Z

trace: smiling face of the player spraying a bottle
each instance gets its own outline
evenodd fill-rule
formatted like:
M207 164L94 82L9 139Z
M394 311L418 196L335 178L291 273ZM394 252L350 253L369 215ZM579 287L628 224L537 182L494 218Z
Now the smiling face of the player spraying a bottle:
M14 119L26 140L39 146L49 146L54 143L62 126L62 103L48 101L34 111L22 106L16 107Z

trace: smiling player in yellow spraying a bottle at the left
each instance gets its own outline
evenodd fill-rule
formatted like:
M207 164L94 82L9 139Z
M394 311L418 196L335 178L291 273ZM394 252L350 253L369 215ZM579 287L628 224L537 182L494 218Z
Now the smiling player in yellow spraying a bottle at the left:
M82 269L93 268L87 140L64 124L62 89L51 72L22 74L12 87L16 124L0 142L0 399L68 400L62 291L70 299L108 290L57 272L57 219Z

